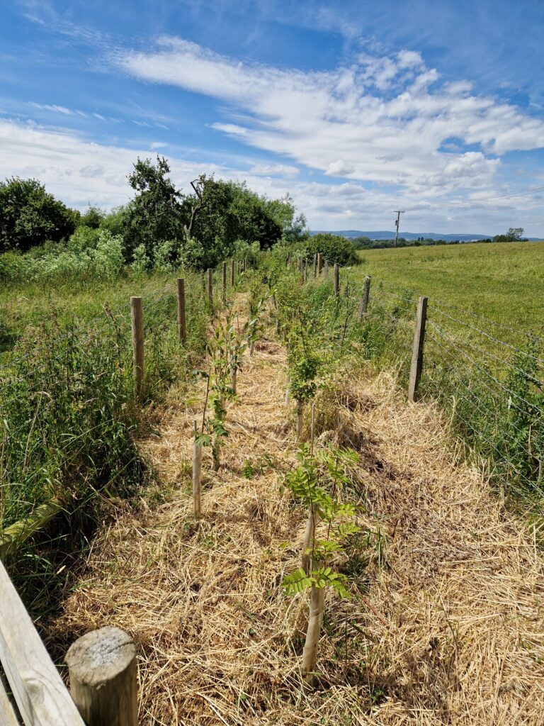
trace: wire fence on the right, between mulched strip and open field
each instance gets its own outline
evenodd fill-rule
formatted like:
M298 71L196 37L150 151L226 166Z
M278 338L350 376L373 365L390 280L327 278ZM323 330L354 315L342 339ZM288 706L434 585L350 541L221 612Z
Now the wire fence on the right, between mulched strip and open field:
M331 279L329 272L329 286ZM308 281L313 280L308 274ZM345 268L339 300L345 294L353 297L358 325L350 335L359 350L379 367L394 362L398 380L408 390L418 359L413 346L419 293L374 276L368 306L358 315L363 276ZM542 513L543 335L433 299L423 334L419 399L436 401L469 457L485 465L490 478L516 502Z

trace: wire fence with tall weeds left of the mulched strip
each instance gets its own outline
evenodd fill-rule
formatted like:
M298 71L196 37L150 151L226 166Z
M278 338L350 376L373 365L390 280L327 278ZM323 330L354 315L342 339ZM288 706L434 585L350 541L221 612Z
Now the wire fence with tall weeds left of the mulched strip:
M133 383L131 305L74 322L52 314L20 335L0 366L0 535L52 499L81 502L132 490L144 476L134 444L141 411L191 375L210 314L202 276L186 274L186 336L175 282L142 295L145 396ZM221 290L216 286L218 305ZM1 537L0 537L1 539ZM0 543L1 544L1 543Z

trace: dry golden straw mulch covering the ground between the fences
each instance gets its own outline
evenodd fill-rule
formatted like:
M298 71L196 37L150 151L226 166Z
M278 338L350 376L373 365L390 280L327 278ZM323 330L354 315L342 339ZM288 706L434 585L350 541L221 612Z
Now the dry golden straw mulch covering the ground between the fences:
M104 528L54 635L131 633L145 725L541 725L540 552L478 473L453 465L437 413L407 406L387 376L344 371L318 400L321 440L360 450L366 538L344 563L353 599L327 594L318 687L302 691L307 598L281 591L305 525L280 486L296 452L284 364L273 340L247 358L223 468L205 458L200 523L189 493L202 391L172 391L141 442L162 502L149 495Z

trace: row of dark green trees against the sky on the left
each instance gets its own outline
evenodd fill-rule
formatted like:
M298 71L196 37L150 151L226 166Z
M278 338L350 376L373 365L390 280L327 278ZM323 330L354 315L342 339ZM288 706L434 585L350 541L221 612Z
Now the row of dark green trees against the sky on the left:
M157 255L173 264L215 266L237 248L257 243L270 248L308 235L306 220L292 198L269 199L242 181L201 174L190 193L170 179L170 166L157 156L138 159L128 174L133 198L110 213L91 206L69 208L36 179L0 182L0 252L25 253L46 242L64 242L76 231L83 247L96 245L107 230L122 238L125 263L152 269Z

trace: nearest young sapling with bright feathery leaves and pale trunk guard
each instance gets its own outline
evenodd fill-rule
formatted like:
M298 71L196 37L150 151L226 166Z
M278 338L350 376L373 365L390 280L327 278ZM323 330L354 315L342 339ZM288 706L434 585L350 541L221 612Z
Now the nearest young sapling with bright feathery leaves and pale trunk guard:
M308 522L302 543L301 566L284 578L283 587L287 595L310 590L302 674L305 683L311 686L315 676L325 590L330 587L341 597L350 597L347 577L334 570L331 560L345 555L345 540L360 531L355 523L355 507L341 499L345 485L353 478L359 457L353 449L334 446L312 453L308 444L302 444L297 458L299 464L287 474L285 484L308 507ZM326 535L322 538L316 536L320 522L326 525Z

